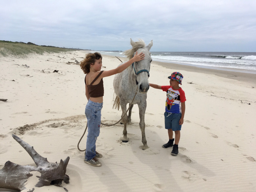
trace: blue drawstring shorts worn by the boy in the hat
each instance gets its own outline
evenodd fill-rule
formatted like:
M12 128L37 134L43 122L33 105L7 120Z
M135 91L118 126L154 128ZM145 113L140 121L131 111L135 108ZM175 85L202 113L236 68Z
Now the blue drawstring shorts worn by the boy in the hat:
M165 129L180 131L181 130L181 125L179 125L180 119L181 119L181 113L168 113L165 111L164 112Z

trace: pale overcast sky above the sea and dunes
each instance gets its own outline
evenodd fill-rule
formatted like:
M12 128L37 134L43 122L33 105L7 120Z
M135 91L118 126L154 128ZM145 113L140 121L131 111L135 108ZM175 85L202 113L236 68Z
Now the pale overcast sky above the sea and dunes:
M95 51L256 52L255 0L1 0L0 40Z

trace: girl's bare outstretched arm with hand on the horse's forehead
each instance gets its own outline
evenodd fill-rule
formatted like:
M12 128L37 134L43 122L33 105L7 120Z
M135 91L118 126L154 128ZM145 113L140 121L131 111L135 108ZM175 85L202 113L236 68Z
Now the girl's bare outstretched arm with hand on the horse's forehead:
M112 70L109 70L109 71L104 71L100 75L100 77L103 78L103 77L108 77L108 76L111 76L111 75L115 75L117 73L121 73L123 70L125 70L127 67L129 67L132 63L141 61L141 60L144 59L144 57L145 57L144 53L139 53L138 54L138 52L136 52L134 57L131 58L129 61L127 61L126 63L124 63L122 65L119 65L116 69L112 69Z

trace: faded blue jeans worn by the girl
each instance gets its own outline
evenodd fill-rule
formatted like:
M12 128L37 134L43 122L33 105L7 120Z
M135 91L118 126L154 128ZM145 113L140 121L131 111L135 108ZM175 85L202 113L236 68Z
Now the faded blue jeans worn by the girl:
M101 109L103 103L95 103L89 99L86 108L85 116L87 118L87 140L86 140L86 152L85 160L91 160L96 155L96 140L99 136Z

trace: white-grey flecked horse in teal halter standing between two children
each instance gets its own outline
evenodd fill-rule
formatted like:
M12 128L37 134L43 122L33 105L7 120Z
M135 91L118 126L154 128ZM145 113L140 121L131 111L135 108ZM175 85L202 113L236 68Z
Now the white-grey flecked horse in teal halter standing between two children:
M113 108L118 108L121 105L122 109L122 116L126 113L126 105L127 103L131 103L136 91L137 87L139 92L134 98L134 101L131 103L131 108L129 109L129 116L125 115L122 119L123 123L123 142L128 142L127 138L127 130L126 124L127 122L131 122L131 113L132 107L134 104L138 104L139 106L139 128L142 134L142 143L143 143L143 150L148 148L147 140L145 136L145 111L147 107L147 91L149 89L148 77L149 77L149 70L150 70L150 63L152 61L151 53L149 52L150 48L153 45L153 40L145 46L145 42L139 39L138 42L134 42L131 39L132 48L125 51L124 54L127 56L128 59L131 59L133 55L136 53L144 53L145 57L143 60L139 62L135 62L132 64L131 67L128 67L123 72L116 74L114 77L114 90L116 94L115 103Z

